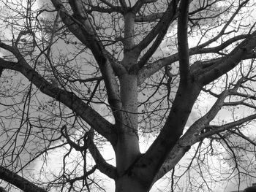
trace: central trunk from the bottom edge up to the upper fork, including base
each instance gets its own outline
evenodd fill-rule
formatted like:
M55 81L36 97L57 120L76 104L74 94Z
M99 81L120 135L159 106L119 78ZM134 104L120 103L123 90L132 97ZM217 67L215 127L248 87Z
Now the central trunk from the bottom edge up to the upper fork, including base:
M131 173L131 167L140 156L138 138L137 75L124 74L120 77L120 92L123 112L116 120L118 140L116 142L116 191L146 191L138 178Z

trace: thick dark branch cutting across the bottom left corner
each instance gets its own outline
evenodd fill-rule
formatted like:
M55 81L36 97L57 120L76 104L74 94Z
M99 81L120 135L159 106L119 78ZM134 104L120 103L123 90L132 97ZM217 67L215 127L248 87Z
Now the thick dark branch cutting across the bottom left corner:
M44 189L39 188L37 185L34 185L34 183L31 183L29 180L26 180L23 177L20 177L20 175L4 168L4 166L0 166L0 179L15 185L17 188L20 188L20 190L25 192L47 192Z

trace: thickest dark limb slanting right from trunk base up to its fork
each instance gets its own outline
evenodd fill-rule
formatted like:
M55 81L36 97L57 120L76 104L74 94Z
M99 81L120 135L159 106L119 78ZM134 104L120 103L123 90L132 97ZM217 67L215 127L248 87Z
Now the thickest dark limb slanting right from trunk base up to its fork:
M181 137L200 89L192 82L189 82L186 87L179 86L176 98L173 101L173 107L162 131L147 152L135 164L135 174L146 180L145 182L151 183L154 181L154 176L164 163L168 153Z

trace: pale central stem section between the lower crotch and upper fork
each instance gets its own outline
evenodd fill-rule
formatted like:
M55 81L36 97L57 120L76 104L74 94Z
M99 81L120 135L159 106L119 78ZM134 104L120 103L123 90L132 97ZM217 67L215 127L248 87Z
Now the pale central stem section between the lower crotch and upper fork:
M121 119L116 120L118 141L116 144L116 168L118 175L124 174L140 155L138 141L137 76L124 74L120 78Z

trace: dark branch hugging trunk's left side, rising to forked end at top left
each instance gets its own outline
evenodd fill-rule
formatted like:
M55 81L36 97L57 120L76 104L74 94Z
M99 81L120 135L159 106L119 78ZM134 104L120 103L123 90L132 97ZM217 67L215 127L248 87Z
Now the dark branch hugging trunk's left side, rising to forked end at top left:
M84 45L91 49L97 63L99 64L99 69L102 72L102 77L105 81L105 85L108 93L108 102L112 108L114 115L121 109L120 96L118 96L118 82L116 81L116 74L113 71L112 65L118 65L109 58L108 52L102 47L100 39L97 37L94 28L91 26L89 18L84 12L82 1L75 0L69 1L74 17L70 16L67 10L64 8L63 4L59 0L52 0L53 5L56 9L60 10L61 19L68 26L69 30L78 37ZM118 69L122 69L121 65L116 66ZM119 70L120 71L120 70Z

